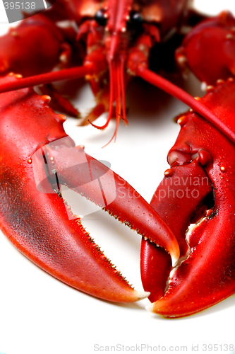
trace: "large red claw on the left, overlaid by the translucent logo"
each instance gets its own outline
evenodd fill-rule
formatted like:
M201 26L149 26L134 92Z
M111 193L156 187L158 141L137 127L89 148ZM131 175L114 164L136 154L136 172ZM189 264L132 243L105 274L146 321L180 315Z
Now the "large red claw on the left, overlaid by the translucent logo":
M11 75L1 81L16 78ZM64 132L64 117L49 108L48 96L21 89L2 93L0 101L0 222L4 234L31 261L78 290L114 302L133 302L149 295L133 290L104 256L80 219L74 219L57 182L81 187L97 203L103 196L109 201L105 209L177 258L179 247L167 224L122 178L86 155L83 148L74 147ZM47 157L50 162L54 159L52 166L45 164ZM124 191L130 197L122 207L125 183L130 191Z

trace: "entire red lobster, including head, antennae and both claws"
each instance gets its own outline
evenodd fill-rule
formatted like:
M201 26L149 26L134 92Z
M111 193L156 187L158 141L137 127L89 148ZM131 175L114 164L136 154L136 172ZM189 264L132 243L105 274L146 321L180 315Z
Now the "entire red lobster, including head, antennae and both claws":
M210 93L201 100L195 100L147 69L152 45L169 34L173 26L179 26L180 22L185 21L182 17L186 1L171 1L174 11L170 13L165 1L120 1L117 4L112 0L73 0L59 1L59 4L64 11L58 11L58 17L55 13L55 18L72 18L80 26L80 30L76 42L73 28L64 29L51 21L50 25L54 26L56 33L52 36L56 54L52 55L50 67L52 69L58 64L59 59L68 66L69 57L73 57L71 45L74 43L79 45L78 51L82 55L78 55L78 60L81 57L83 65L52 73L47 73L47 67L32 65L32 72L28 73L25 69L24 74L28 76L25 79L21 79L20 75L10 74L1 80L1 92L20 89L0 96L4 117L1 130L5 132L6 125L10 123L14 127L11 135L6 132L7 145L6 142L1 143L1 155L8 154L11 157L11 163L8 162L9 158L2 158L2 230L25 256L68 285L116 302L131 302L147 296L148 293L140 294L131 289L90 239L79 219L69 212L59 190L60 184L68 185L101 205L114 217L137 229L153 243L162 246L155 247L151 242L143 240L141 250L143 285L146 292L151 292L150 300L154 302L149 307L151 311L177 317L212 306L234 292L233 219L229 219L229 236L226 242L224 228L221 226L224 219L233 213L233 178L232 174L227 175L231 169L228 151L232 154L235 142L234 127L230 121L234 114L234 82L232 79L227 82L220 81L220 86L218 84L214 89L211 85L215 85L215 77L207 75L207 72L210 72L210 62L207 62L208 71L204 69L200 79L210 84ZM52 18L51 13L45 11L46 19L44 20L43 16L42 22L49 21ZM37 29L40 16L32 17L28 30L32 23ZM53 21L55 18L53 17ZM137 19L141 26L137 23L129 30L128 21L131 18L132 21ZM16 40L21 38L20 31L25 28L28 20L16 28L15 33L10 33L15 45ZM222 60L215 63L216 75L219 75L219 79L231 76L234 73L231 64L234 22L234 18L224 12L217 18L196 26L176 52L181 69L185 70L187 65L194 69L189 53L192 48L196 52L198 41L210 42L214 33L214 38L219 36L221 42L225 43L221 52ZM207 31L210 33L209 37ZM27 37L27 33L26 30L22 38ZM131 40L130 33L133 34ZM47 52L45 43L40 36L38 40L43 44L40 55L44 58L44 52ZM80 46L84 40L88 47L86 55L83 55L83 47ZM68 42L71 45L68 45ZM18 64L13 67L13 59L9 58L6 51L2 72L6 73L12 69L18 72ZM198 58L200 63L202 57L199 55ZM20 58L19 60L23 61ZM41 74L42 72L46 74ZM198 72L195 70L195 74ZM40 75L30 76L32 74ZM40 98L31 89L22 89L35 84L86 76L97 97L97 106L92 110L89 120L108 110L107 123L103 126L106 127L114 113L115 101L117 129L120 118L126 121L125 86L132 75L143 77L194 109L178 119L181 132L169 153L171 168L165 172L164 181L152 198L152 207L142 198L134 198L136 192L131 186L85 154L83 147L74 147L73 141L61 127L63 116L55 115L49 110L48 96ZM52 86L47 86L46 89L51 90L52 97L55 97L63 108L66 106L67 110L68 102L63 101ZM19 102L23 103L23 109L18 108ZM31 111L33 118L28 114ZM22 119L19 119L21 117ZM25 126L30 127L30 136L24 131ZM16 150L19 148L16 137L19 132L22 134L24 146L16 156ZM223 149L218 149L218 140L223 143ZM14 173L11 172L13 166ZM92 166L95 168L92 169ZM92 188L88 186L88 183L97 178L105 181L102 193L100 184ZM113 181L116 190L114 200L113 188L109 186L106 190L104 187L105 183L113 185ZM128 190L132 190L131 197L127 200L123 200L119 195L120 181L121 185L124 183ZM184 198L181 198L182 193ZM20 195L20 198L14 204L16 195ZM112 201L107 205L107 200ZM137 213L136 210L140 212ZM32 220L29 219L31 213L34 215ZM149 217L146 218L146 215ZM199 223L202 218L203 221ZM52 219L60 221L53 228ZM186 229L193 222L197 223L197 227L185 236ZM174 275L170 275L179 256L178 268L174 268ZM88 267L92 267L92 270Z

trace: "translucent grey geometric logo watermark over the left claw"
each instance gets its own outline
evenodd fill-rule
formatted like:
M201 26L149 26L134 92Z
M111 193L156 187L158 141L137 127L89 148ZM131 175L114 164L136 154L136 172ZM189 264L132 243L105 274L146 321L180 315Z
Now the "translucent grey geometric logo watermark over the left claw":
M92 159L83 147L70 144L68 137L46 144L37 149L30 163L41 193L57 193L66 200L70 192L76 192L74 199L80 211L74 215L66 209L68 219L76 219L110 205L116 198L116 183L109 162Z

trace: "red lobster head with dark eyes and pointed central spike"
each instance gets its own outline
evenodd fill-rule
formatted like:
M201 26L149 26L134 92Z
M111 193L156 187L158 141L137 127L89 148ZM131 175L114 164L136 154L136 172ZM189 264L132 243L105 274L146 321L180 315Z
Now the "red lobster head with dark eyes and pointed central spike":
M140 65L148 67L151 47L179 22L186 1L108 0L90 1L89 6L88 1L79 1L78 7L76 0L71 2L73 18L82 23L78 39L85 36L88 45L84 64L93 67L88 79L97 106L88 119L92 122L109 111L107 123L100 128L107 127L115 105L117 128L120 118L127 122L128 81Z

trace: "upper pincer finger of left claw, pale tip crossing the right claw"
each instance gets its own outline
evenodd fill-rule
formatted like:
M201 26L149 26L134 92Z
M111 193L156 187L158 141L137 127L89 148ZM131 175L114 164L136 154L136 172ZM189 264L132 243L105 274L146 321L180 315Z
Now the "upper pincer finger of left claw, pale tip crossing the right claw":
M36 155L38 157L39 154ZM45 146L43 156L47 159L50 180L54 179L52 183L55 186L58 183L67 185L100 205L146 239L164 247L171 255L172 264L177 263L179 246L174 234L157 212L121 176L85 154L84 147L69 146L67 138ZM43 185L44 181L38 182Z

